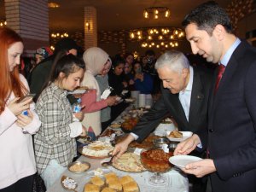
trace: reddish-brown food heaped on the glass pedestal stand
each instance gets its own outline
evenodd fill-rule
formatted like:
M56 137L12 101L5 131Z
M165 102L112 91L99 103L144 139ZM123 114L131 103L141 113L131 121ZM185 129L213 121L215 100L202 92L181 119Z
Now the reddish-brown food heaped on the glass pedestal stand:
M167 172L172 168L169 162L171 156L173 156L172 152L165 153L161 148L150 148L143 150L141 161L149 172Z

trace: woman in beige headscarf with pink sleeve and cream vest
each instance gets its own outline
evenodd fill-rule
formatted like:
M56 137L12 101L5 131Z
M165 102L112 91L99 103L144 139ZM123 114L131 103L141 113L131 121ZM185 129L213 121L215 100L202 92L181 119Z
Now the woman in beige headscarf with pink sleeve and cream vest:
M82 124L90 131L93 131L96 136L101 134L101 109L113 106L116 101L116 96L108 96L107 99L101 99L102 92L96 80L96 75L101 74L104 67L108 67L108 54L98 48L92 47L84 52L83 59L86 66L82 86L87 86L90 90L82 96L82 105L84 119Z

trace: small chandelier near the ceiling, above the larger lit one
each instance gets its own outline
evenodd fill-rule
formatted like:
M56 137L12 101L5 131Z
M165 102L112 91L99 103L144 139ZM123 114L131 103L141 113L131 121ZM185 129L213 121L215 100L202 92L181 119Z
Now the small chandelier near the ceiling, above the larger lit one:
M156 20L160 16L168 18L170 16L170 9L166 7L150 7L150 8L144 9L143 16L146 19L153 17Z

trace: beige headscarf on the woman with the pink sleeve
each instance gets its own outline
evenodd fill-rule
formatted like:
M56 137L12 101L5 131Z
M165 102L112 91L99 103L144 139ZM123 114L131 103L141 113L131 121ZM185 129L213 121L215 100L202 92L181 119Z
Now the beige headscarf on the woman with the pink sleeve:
M98 47L86 49L83 55L86 70L89 70L94 76L102 72L102 68L108 61L108 54Z

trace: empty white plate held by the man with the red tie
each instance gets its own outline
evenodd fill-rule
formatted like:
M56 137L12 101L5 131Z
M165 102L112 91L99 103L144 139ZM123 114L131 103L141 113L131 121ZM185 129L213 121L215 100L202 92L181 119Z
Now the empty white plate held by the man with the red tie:
M195 161L202 160L200 157L191 156L191 155L176 155L169 158L170 163L172 165L183 168L189 163L193 163Z

